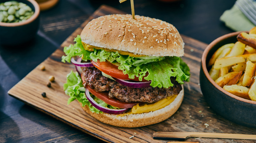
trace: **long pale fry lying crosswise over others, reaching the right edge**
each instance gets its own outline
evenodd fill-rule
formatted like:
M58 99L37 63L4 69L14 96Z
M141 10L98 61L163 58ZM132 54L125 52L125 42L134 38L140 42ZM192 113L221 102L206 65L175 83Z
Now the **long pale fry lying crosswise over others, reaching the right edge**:
M256 61L256 54L246 54L246 55L219 58L214 63L214 69L218 70L227 66L232 66L232 65L247 62L247 61L252 61L252 62Z

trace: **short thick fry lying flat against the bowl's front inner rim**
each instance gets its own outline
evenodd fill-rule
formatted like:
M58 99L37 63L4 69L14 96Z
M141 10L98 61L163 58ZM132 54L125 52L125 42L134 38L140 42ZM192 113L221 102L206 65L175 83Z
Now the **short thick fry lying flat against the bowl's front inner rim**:
M250 100L249 95L248 95L249 88L247 88L247 87L231 85L231 86L224 86L223 89L236 95L236 96Z

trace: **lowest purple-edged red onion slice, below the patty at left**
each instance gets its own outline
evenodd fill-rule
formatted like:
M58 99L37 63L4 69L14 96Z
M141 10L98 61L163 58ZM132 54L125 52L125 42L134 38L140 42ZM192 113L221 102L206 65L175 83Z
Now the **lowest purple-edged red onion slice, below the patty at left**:
M89 90L86 88L85 89L85 95L86 95L86 98L88 99L88 101L97 109L99 109L100 111L102 112L105 112L105 113L108 113L108 114L122 114L126 111L129 110L129 108L124 108L124 109L109 109L109 108L106 108L106 107L103 107L101 105L99 105L98 103L96 103L93 98L90 96L90 93L89 93Z

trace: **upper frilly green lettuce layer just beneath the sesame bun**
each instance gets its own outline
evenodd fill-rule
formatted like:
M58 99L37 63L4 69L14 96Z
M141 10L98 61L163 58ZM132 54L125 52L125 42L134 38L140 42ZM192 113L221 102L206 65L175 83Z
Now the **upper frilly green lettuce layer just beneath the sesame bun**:
M70 62L72 56L80 56L83 60L93 60L100 62L109 61L111 63L118 63L118 69L122 70L124 74L128 74L130 79L135 76L139 77L141 81L143 76L146 80L151 80L150 86L168 88L173 86L170 77L176 77L176 81L184 84L183 81L189 81L189 67L184 63L180 57L155 57L155 56L142 56L131 57L127 55L120 55L118 52L107 52L105 50L97 50L89 52L84 50L81 43L80 36L78 35L75 40L75 45L70 45L64 48L67 56L62 56L62 61ZM71 50L74 48L74 50Z

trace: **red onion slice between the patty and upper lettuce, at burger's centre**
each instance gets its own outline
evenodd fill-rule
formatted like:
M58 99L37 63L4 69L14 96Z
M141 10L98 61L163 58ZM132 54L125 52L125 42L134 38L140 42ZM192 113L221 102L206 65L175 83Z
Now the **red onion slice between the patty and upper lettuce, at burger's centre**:
M132 88L144 88L144 87L151 87L151 81L147 81L147 82L129 82L129 81L125 81L123 79L118 79L115 77L112 77L114 80L116 80L118 83L120 83L121 85L127 86L127 87L132 87Z

